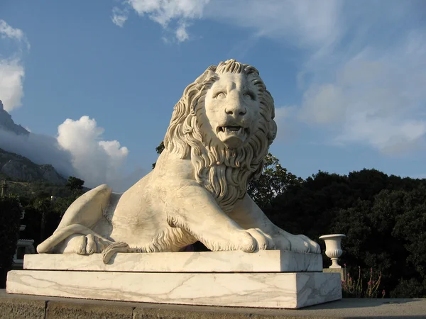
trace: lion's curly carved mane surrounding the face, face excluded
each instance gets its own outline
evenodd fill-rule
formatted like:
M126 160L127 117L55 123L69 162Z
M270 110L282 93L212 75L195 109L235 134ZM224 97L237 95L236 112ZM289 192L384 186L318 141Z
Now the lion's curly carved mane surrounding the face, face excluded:
M207 90L224 73L244 74L256 86L261 105L258 129L248 142L235 150L207 138L199 123ZM220 62L188 85L176 103L164 139L165 150L182 159L190 156L197 183L212 194L222 210L229 212L235 202L245 196L249 181L257 179L262 172L263 159L277 132L274 116L273 98L258 70L236 60Z

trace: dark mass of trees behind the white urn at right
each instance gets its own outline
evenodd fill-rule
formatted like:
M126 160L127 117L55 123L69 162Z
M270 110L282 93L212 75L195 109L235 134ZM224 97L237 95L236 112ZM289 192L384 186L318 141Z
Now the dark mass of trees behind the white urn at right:
M265 211L280 228L319 242L323 252L320 235L344 233L342 263L348 272L377 269L378 291L386 288L388 296L404 298L408 291L426 296L425 203L424 179L363 169L348 176L319 172L288 186ZM361 279L368 281L368 274Z

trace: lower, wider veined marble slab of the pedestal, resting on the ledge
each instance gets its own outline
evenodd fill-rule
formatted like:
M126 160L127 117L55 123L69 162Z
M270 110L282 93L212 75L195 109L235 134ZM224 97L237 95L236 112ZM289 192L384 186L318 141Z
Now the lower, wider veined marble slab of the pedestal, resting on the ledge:
M302 308L342 298L340 274L15 270L6 291L41 296L204 306Z

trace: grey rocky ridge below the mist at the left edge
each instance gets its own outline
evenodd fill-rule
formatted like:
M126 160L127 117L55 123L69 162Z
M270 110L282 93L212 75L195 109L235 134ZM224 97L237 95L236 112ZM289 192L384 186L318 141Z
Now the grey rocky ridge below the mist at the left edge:
M25 129L23 129L25 130ZM50 164L38 165L21 155L0 148L1 179L13 181L45 181L54 185L65 185L67 180Z

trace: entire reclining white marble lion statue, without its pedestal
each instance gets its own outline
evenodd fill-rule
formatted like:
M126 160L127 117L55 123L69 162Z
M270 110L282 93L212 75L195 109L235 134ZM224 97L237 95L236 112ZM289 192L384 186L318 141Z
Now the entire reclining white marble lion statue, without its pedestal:
M77 198L39 253L209 250L320 253L271 223L246 193L275 138L274 103L256 68L227 60L187 86L155 169L124 194L98 186Z

